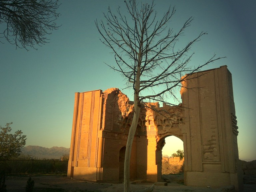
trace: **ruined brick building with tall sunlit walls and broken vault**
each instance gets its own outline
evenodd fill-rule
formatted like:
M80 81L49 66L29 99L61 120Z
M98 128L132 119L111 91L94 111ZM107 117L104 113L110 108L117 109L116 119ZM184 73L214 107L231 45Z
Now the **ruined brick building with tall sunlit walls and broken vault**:
M150 103L155 110L141 110L130 180L161 181L162 147L173 135L184 142L185 185L234 185L238 191L242 175L231 73L221 66L192 77L184 82L179 106ZM132 102L117 88L75 93L68 177L122 182L132 112Z

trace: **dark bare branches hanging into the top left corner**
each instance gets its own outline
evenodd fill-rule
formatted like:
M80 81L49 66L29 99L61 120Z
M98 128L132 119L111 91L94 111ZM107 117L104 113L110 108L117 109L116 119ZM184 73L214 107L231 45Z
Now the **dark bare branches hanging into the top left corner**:
M55 20L59 0L1 0L0 24L6 28L0 31L1 38L16 45L16 48L44 45L49 31L58 29Z

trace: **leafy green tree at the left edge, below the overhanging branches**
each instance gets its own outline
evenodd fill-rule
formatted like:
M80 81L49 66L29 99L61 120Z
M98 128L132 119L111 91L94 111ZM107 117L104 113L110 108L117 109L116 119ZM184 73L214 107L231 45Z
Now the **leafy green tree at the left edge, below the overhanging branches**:
M21 147L26 144L26 136L18 130L11 134L11 123L6 123L5 127L0 126L0 159L16 158L20 155Z

